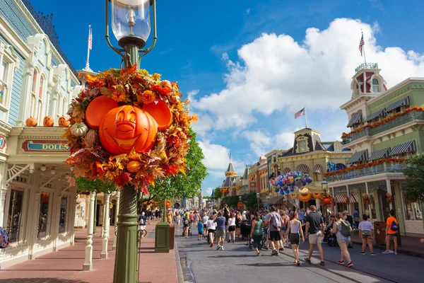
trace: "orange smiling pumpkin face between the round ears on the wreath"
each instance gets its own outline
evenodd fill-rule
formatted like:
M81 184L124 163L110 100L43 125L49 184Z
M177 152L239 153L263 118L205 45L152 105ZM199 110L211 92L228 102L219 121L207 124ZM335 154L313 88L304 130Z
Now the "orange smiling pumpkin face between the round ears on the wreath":
M99 127L102 146L111 154L148 151L155 144L158 124L148 112L126 105L114 108Z

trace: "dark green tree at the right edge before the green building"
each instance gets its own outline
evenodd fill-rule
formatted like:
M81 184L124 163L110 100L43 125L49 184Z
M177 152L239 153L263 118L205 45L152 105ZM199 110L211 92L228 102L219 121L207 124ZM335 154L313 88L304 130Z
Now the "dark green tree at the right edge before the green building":
M414 155L406 161L403 172L406 184L402 186L408 200L424 200L424 154Z

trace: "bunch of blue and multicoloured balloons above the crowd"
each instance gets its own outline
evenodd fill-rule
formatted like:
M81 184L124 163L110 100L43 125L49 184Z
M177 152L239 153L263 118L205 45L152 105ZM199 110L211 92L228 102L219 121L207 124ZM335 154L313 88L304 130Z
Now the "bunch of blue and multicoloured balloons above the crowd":
M289 172L269 180L272 189L280 192L280 195L288 195L290 192L298 192L306 184L312 183L310 175L302 172Z

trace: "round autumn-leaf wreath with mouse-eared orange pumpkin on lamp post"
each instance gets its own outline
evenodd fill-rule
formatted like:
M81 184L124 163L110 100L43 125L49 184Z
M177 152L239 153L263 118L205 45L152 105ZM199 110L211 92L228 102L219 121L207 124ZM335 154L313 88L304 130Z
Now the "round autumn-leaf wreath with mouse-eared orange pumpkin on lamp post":
M74 177L132 185L148 194L155 180L184 173L188 129L196 120L177 83L136 66L87 76L71 102L66 163ZM72 182L72 180L71 180Z

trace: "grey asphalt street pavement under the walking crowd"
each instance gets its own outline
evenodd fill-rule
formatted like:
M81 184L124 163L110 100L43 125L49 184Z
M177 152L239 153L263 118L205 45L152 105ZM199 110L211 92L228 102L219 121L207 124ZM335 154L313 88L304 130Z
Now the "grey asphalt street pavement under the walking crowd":
M312 265L301 262L294 265L291 248L285 248L278 257L263 250L261 257L249 250L245 242L225 243L225 250L209 248L205 240L196 236L177 236L179 258L182 263L184 282L423 282L423 258L409 255L382 255L381 250L371 256L360 255L360 246L349 249L353 267L338 265L340 249L324 244L326 265L319 265L317 248ZM300 260L307 255L309 244L301 245ZM317 256L317 258L315 258Z

